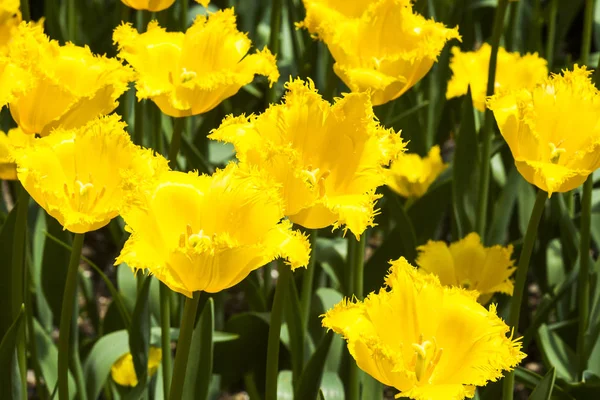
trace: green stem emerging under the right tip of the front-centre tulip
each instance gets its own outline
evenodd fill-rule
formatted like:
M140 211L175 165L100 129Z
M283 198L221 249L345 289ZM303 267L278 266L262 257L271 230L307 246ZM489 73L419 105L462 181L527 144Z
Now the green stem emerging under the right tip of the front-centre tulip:
M265 386L265 400L277 400L277 377L279 375L279 336L283 320L283 306L288 282L292 270L284 262L279 262L279 279L275 286L275 298L271 309L269 324L269 339L267 344L267 375Z

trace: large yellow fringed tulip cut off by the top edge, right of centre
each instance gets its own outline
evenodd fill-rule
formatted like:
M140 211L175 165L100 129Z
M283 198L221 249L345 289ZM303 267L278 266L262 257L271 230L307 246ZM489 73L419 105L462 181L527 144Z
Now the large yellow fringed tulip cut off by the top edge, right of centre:
M427 20L410 0L304 0L299 24L324 41L334 70L353 91L370 91L373 105L394 100L423 78L458 29Z

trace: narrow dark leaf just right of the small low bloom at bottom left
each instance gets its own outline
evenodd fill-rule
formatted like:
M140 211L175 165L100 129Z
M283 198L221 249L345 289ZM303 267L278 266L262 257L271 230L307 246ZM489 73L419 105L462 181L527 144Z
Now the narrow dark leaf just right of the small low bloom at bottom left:
M148 380L148 349L150 347L150 308L148 293L152 276L144 278L137 296L135 308L131 316L129 330L129 351L133 359L135 374L138 377L137 386L144 387Z

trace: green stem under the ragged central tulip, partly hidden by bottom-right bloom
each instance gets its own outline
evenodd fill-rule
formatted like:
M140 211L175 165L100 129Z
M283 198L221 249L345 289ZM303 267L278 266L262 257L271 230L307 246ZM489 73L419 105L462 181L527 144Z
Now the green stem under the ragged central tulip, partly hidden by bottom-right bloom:
M365 243L366 233L363 233L360 240L354 236L348 237L348 271L350 275L347 279L349 286L348 296L356 296L358 299L363 297L364 287L364 268L365 268ZM360 399L360 372L355 361L348 363L348 400Z

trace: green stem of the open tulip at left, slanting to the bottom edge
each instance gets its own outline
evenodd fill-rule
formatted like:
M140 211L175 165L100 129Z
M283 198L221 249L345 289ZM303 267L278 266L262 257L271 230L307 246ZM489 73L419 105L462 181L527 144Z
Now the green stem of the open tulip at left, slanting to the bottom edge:
M69 398L69 338L71 336L71 318L77 289L77 270L83 248L83 233L76 233L73 238L73 250L67 271L65 291L63 293L60 314L60 331L58 338L58 397Z

